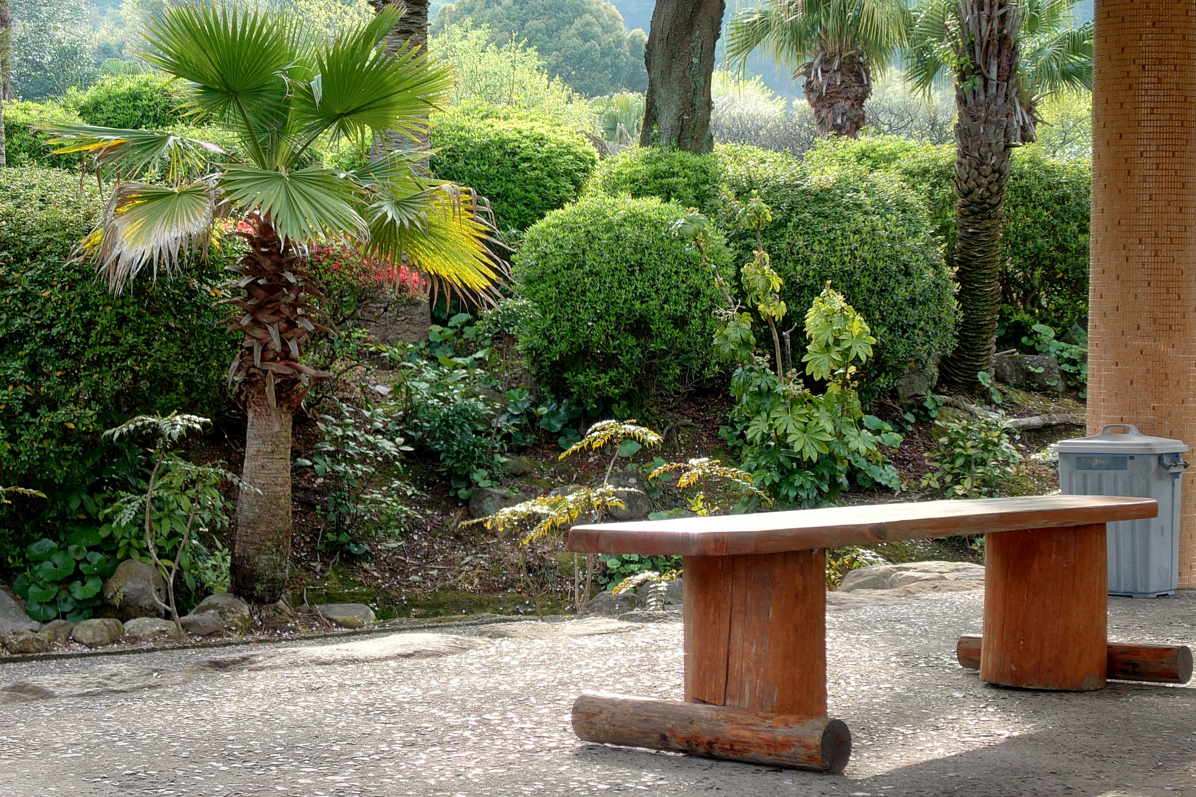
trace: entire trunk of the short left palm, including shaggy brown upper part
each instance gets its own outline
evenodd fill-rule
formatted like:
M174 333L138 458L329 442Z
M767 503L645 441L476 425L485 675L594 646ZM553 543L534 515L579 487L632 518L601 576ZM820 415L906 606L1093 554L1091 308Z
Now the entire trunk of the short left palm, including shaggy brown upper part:
M242 597L271 602L291 562L291 417L312 380L330 374L299 362L309 332L325 330L312 320L311 300L322 296L299 253L258 216L237 234L249 253L234 269L242 276L225 288L244 293L220 302L237 307L225 323L244 333L230 369L248 419L232 587Z

